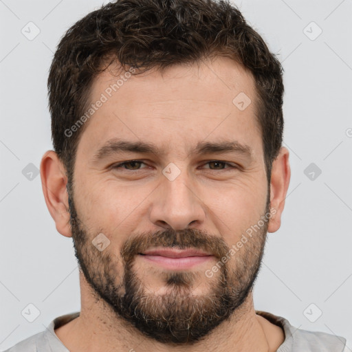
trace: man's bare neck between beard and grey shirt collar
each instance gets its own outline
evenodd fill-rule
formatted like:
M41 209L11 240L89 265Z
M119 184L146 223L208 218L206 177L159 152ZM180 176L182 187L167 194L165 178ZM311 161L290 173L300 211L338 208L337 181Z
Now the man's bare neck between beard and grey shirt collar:
M157 342L118 318L104 301L94 298L94 292L82 273L80 287L80 316L55 330L56 336L71 352L274 352L283 342L282 329L256 315L252 292L241 307L208 336L195 344L181 346Z

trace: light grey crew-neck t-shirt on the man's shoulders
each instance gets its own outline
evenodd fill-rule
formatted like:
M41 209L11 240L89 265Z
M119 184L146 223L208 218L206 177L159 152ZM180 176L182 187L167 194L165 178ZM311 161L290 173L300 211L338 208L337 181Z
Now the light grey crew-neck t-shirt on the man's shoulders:
M329 333L311 332L296 329L289 324L289 321L281 316L265 311L256 311L256 314L263 316L285 331L285 341L278 348L277 352L343 352L346 340L340 336ZM77 318L80 312L66 314L50 322L49 327L41 333L27 338L5 352L69 352L63 342L58 339L54 329L65 325L70 320Z

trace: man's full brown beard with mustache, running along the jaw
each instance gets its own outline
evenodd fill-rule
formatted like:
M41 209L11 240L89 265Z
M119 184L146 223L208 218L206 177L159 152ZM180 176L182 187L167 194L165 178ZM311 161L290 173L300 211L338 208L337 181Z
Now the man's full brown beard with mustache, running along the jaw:
M87 232L78 219L73 195L69 197L69 212L78 265L96 298L107 303L118 320L164 344L193 344L235 311L239 317L239 308L252 291L261 267L267 222L223 263L221 259L230 253L225 241L195 229L144 232L130 236L123 243L120 256L109 252L109 248L100 252L91 243L96 232ZM204 250L221 265L217 265L219 269L211 278L199 270L155 271L165 288L157 294L135 266L136 257L151 247ZM118 270L120 261L123 272ZM195 294L197 284L206 287L201 294Z

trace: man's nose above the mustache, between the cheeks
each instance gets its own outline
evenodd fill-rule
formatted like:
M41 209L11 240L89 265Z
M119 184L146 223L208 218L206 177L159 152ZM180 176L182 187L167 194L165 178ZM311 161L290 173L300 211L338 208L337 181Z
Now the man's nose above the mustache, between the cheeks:
M176 231L201 225L205 219L205 205L200 193L185 170L173 180L162 175L161 184L153 192L151 221Z

